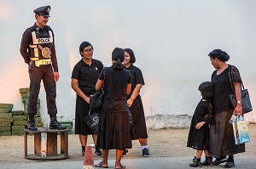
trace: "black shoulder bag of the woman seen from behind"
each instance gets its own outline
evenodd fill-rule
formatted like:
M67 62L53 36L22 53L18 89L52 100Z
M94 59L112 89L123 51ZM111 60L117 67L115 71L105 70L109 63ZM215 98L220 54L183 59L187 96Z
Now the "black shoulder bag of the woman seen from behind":
M102 96L104 94L104 83L105 83L105 75L106 71L103 71L103 85L100 90L98 90L96 93L90 95L90 110L98 110L102 107Z

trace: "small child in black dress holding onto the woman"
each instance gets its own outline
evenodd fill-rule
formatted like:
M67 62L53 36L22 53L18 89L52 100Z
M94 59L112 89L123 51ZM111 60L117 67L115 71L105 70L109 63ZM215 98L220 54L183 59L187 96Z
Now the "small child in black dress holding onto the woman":
M195 108L192 117L187 147L197 149L193 163L189 166L208 166L212 165L212 157L209 155L209 125L212 120L212 99L213 87L212 82L202 82L198 87L201 92L201 101ZM206 161L201 163L201 154L205 152Z

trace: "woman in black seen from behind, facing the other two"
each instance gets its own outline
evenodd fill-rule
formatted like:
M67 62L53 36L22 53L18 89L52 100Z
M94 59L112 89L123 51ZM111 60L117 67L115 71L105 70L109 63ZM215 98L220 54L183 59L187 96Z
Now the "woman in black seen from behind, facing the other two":
M123 149L131 149L131 133L128 119L126 95L131 93L131 73L124 69L122 62L125 51L114 48L112 53L113 65L105 67L96 83L96 90L102 88L104 74L104 95L99 121L97 143L102 149L102 162L96 167L108 167L108 150L116 149L115 168L122 166Z

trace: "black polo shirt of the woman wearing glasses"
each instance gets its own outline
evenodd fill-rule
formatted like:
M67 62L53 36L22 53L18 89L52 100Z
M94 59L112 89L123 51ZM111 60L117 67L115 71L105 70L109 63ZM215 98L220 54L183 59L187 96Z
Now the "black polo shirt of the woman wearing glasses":
M102 69L103 65L99 60L91 59L91 65L88 65L81 59L74 66L71 78L79 80L79 88L90 97L91 94L96 93L96 82Z

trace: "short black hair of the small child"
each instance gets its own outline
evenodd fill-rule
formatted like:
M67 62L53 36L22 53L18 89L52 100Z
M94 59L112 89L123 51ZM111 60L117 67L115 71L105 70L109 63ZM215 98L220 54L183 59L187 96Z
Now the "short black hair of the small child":
M198 90L201 92L202 99L213 99L213 86L212 82L202 82Z

